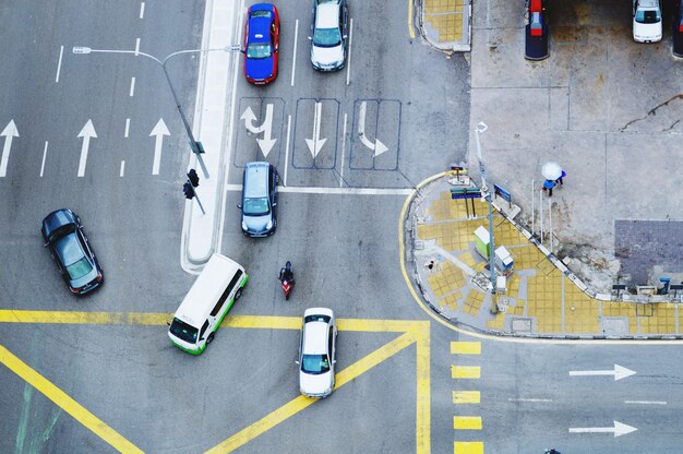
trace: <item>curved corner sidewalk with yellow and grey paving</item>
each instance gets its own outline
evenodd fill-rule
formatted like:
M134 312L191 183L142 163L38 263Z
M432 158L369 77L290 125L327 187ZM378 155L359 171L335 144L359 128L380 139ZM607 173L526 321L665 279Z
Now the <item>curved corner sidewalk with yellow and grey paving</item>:
M566 338L683 338L681 294L603 295L591 291L514 219L494 210L494 247L505 246L514 273L504 295L492 297L487 261L475 249L475 230L488 229L488 206L452 200L452 172L427 180L406 219L407 270L430 307L454 323L493 334ZM500 199L499 199L500 200ZM494 201L494 206L495 206ZM503 202L506 203L506 202ZM428 267L434 261L432 270ZM678 302L678 303L676 303ZM493 308L501 309L493 313Z

